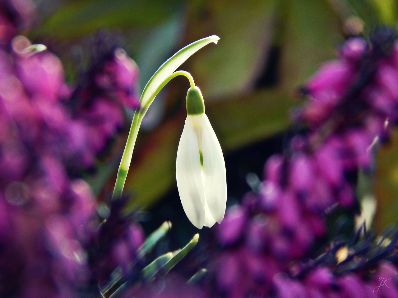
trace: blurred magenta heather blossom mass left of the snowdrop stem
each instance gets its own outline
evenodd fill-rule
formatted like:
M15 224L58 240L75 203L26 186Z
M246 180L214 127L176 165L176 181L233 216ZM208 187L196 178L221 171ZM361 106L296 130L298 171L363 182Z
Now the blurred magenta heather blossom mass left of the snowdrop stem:
M57 56L17 35L31 2L0 7L0 296L76 297L101 265L86 250L100 238L96 198L76 176L124 125L123 108L136 107L137 66L108 48L82 75L90 81L70 87ZM124 229L132 236L104 252L114 268L143 241L139 226Z

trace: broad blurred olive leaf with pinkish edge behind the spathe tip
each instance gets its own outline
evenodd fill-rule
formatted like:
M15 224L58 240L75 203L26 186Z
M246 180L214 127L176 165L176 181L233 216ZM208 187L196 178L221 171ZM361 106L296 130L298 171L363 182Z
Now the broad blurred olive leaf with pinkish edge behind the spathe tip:
M263 70L273 33L276 0L191 2L187 42L217 34L217 47L191 61L206 99L244 93Z

